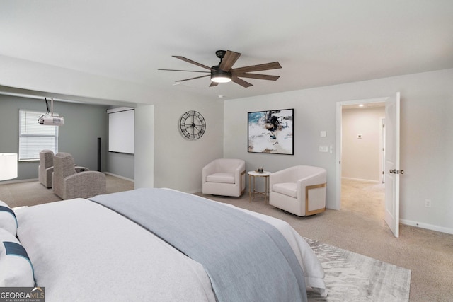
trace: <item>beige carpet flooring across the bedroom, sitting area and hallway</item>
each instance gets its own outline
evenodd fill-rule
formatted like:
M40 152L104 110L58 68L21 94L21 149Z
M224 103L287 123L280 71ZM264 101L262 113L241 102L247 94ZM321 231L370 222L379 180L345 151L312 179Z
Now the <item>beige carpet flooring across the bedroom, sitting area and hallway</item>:
M106 176L109 193L134 187L133 182ZM410 301L453 301L453 235L401 225L400 238L394 238L384 223L383 192L380 184L345 180L342 209L309 217L288 214L261 197L249 202L248 193L238 198L199 195L285 220L319 243L411 270ZM0 200L18 207L59 198L39 182L21 182L0 185Z

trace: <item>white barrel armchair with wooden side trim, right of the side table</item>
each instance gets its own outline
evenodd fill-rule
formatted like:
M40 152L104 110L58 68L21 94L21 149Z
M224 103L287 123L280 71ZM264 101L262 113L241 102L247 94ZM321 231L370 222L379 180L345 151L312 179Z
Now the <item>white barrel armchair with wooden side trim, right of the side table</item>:
M326 169L297 165L269 177L269 204L297 216L326 210Z

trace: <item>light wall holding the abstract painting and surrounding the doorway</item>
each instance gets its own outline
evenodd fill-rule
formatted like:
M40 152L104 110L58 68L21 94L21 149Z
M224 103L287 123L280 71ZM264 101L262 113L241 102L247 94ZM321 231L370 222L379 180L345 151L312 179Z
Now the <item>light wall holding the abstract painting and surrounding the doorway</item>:
M290 91L225 103L224 156L243 158L247 170L274 172L291 165L328 170L327 206L335 206L336 163L319 145L336 144L336 103L401 92L401 221L453 233L453 69ZM294 156L247 153L249 111L294 108ZM231 126L233 125L233 126ZM324 130L327 137L320 137ZM335 146L336 148L337 146ZM425 199L432 207L424 206Z

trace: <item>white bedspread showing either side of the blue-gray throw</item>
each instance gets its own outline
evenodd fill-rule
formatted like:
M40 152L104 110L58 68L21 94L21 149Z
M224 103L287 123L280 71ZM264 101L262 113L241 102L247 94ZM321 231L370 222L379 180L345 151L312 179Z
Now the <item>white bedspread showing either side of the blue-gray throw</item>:
M323 269L305 240L285 221L246 212L282 232L306 285L322 294ZM71 199L18 209L16 216L46 301L215 301L202 265L99 204Z

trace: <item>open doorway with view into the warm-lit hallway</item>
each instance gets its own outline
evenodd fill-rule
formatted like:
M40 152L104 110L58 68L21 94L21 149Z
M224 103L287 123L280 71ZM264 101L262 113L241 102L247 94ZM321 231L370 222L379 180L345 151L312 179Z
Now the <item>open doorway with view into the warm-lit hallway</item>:
M384 131L385 100L352 100L337 104L337 206L348 199L348 208L384 213ZM372 200L367 209L366 200Z

